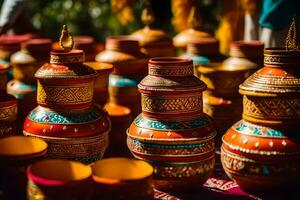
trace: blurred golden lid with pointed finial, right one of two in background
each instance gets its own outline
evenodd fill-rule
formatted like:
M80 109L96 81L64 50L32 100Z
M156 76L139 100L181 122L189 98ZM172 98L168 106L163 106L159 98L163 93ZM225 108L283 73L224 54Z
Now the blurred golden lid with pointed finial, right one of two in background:
M186 48L188 43L191 43L193 41L197 41L203 38L209 38L212 37L210 34L203 32L200 30L201 28L201 18L198 15L198 12L196 11L196 8L193 7L191 9L191 12L189 14L189 29L184 30L180 33L178 33L173 38L173 44L177 48Z

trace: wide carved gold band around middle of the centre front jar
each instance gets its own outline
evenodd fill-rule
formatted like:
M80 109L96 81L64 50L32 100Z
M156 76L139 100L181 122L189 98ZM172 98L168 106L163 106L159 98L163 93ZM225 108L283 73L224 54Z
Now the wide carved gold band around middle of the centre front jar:
M146 112L164 112L165 114L202 112L202 107L202 94L172 96L172 98L142 94L142 110Z

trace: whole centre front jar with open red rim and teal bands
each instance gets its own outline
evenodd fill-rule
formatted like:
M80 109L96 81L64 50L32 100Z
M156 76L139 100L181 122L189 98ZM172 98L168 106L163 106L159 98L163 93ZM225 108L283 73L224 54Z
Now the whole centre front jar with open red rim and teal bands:
M153 58L149 74L138 85L142 113L128 129L132 154L151 163L161 190L201 186L214 168L216 131L203 113L206 85L193 76L193 62Z

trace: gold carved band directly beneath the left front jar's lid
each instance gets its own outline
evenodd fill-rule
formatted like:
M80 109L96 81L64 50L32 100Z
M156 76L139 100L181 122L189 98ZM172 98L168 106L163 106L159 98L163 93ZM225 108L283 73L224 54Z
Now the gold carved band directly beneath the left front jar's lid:
M93 99L93 83L65 87L38 84L38 103L83 104Z

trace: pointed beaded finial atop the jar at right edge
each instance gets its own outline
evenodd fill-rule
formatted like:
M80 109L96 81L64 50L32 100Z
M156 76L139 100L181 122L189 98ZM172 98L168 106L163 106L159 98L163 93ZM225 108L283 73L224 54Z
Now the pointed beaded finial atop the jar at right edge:
M296 17L293 17L292 23L289 28L289 32L286 36L285 48L286 50L290 51L297 51L299 48L297 38Z

